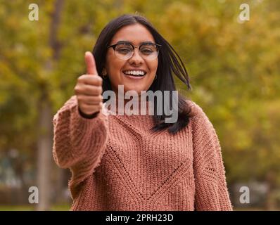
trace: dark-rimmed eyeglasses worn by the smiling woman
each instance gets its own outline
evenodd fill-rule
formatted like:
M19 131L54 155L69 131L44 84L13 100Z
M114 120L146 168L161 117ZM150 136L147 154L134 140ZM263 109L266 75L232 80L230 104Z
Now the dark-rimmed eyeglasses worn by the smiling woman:
M132 58L134 49L139 49L139 55L146 60L154 60L158 57L158 52L160 49L160 44L155 44L152 42L144 42L140 46L133 46L128 41L119 41L117 44L107 46L107 48L112 47L115 51L115 56L121 60L128 60Z

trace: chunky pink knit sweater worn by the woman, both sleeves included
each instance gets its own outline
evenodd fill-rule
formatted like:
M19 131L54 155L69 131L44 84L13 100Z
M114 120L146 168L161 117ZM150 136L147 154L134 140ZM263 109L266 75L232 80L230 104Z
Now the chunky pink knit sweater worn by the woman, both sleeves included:
M150 115L79 115L77 99L53 119L53 158L70 168L71 210L232 210L221 149L203 110L187 127L153 133Z

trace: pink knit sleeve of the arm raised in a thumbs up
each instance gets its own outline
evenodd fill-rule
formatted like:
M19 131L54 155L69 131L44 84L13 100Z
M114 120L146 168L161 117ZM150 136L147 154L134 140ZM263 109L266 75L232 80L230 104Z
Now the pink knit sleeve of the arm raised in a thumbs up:
M108 117L103 110L92 119L79 114L76 96L72 96L53 117L53 158L62 168L70 168L72 198L79 184L101 162L108 139Z

